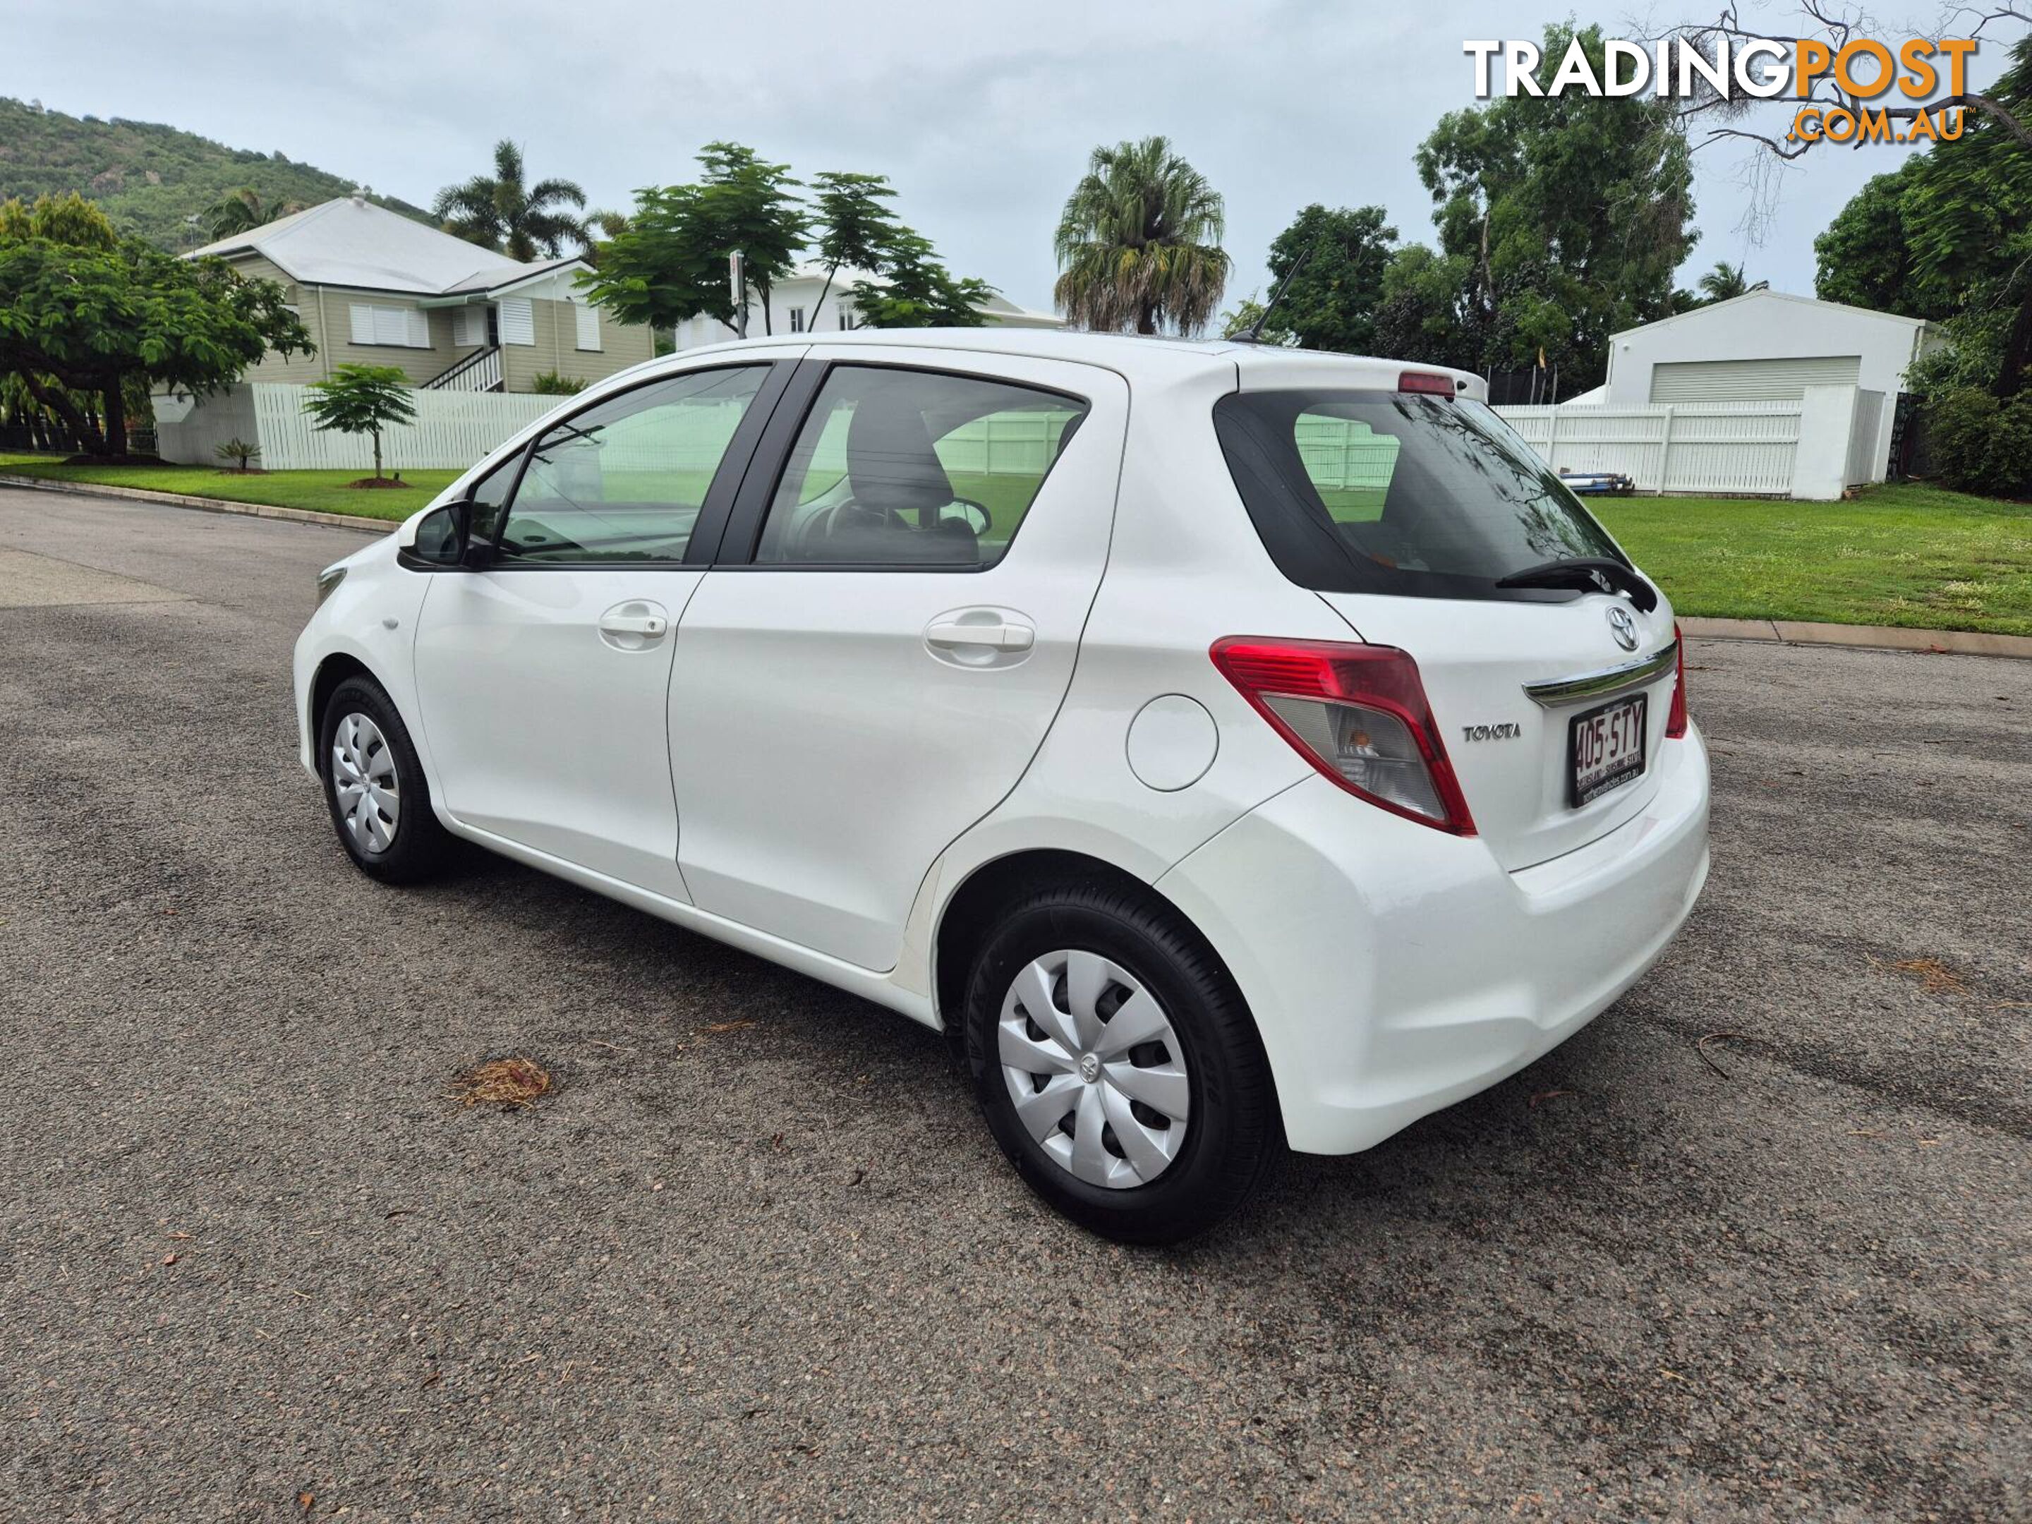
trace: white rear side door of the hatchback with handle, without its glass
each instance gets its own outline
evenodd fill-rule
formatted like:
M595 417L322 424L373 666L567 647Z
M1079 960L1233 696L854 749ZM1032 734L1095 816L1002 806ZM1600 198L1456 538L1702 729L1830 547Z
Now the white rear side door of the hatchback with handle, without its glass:
M811 358L1073 392L1087 419L986 571L715 569L679 626L671 760L679 862L701 908L896 967L931 862L992 811L1065 697L1107 561L1128 384L1095 366L813 345ZM927 630L1004 620L1028 650L941 660Z

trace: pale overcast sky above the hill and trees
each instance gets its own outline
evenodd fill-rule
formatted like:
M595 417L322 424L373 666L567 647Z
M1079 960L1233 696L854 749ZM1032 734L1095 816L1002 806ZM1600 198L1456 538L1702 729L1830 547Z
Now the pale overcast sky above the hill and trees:
M1611 37L1642 30L1630 6L1573 12ZM280 148L419 205L484 171L500 136L524 144L532 177L575 179L606 207L691 179L699 144L732 138L801 175L888 175L955 272L1028 307L1051 305L1051 230L1093 144L1162 132L1227 197L1231 305L1264 284L1270 238L1309 201L1378 203L1406 240L1431 238L1412 152L1473 104L1461 41L1536 39L1565 14L1514 0L0 0L0 93ZM1989 45L1979 75L1999 59ZM1752 280L1811 295L1815 234L1904 152L1817 148L1756 242L1745 154L1703 150L1682 282L1743 260Z

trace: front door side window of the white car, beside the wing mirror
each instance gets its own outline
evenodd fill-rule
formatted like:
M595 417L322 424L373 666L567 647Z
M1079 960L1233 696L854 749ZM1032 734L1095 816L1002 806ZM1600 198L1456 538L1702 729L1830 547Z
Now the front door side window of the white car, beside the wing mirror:
M768 366L695 370L545 431L508 506L498 565L683 561L766 376Z

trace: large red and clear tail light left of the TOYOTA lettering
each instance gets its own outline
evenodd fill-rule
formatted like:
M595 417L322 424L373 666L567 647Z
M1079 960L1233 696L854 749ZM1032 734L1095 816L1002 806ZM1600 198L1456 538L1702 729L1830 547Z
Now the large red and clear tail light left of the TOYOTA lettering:
M1221 677L1341 788L1420 825L1475 833L1408 652L1229 636L1213 642L1211 656Z

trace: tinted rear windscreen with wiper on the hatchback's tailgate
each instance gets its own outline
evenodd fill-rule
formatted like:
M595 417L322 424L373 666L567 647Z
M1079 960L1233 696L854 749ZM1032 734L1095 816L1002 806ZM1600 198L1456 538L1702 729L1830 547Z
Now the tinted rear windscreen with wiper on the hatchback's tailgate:
M1323 593L1565 601L1498 587L1615 541L1481 402L1422 392L1235 392L1213 408L1278 569Z

